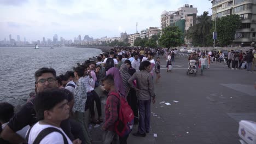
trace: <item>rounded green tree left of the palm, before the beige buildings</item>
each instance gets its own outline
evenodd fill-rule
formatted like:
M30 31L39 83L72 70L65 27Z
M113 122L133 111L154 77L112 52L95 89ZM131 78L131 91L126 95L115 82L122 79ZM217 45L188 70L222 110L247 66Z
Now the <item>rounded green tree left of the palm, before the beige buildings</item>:
M162 47L176 47L183 44L182 32L178 27L168 26L162 29L159 43Z

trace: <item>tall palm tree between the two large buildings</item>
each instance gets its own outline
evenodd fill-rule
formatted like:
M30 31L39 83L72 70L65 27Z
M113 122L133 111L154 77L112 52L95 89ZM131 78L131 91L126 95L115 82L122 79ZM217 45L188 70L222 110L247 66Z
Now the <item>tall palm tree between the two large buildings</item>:
M207 35L210 32L211 29L211 16L208 16L208 11L204 11L201 17L198 17L197 20L199 23L197 24L198 30L197 34L198 35L203 35L203 46L205 46L205 35Z

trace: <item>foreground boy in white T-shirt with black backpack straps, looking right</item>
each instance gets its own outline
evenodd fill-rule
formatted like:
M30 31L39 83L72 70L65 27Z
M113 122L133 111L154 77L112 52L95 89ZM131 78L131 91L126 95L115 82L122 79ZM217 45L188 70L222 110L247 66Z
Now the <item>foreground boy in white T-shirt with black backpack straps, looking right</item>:
M27 132L27 143L76 143L80 144L79 139L73 142L60 128L63 120L69 117L69 106L66 93L61 89L50 89L40 92L34 98L34 109L39 120ZM50 130L51 129L51 130ZM48 135L40 136L49 130ZM44 132L43 132L44 131ZM40 139L39 139L40 138Z

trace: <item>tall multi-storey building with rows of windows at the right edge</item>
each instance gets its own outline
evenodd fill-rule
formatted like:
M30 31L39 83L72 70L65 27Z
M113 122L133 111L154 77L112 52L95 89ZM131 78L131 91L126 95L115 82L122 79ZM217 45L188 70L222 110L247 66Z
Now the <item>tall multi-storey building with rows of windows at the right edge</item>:
M242 25L234 35L233 43L249 46L255 43L256 0L213 0L212 20L230 14L240 16ZM217 38L218 40L218 38Z

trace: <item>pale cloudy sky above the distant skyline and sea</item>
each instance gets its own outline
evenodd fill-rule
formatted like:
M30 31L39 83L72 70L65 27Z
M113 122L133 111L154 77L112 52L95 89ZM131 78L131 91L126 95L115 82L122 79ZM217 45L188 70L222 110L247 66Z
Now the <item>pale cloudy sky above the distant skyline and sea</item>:
M162 11L177 10L184 4L211 14L208 0L0 0L0 40L9 34L16 40L53 39L53 35L72 39L78 35L94 38L119 37L120 32L135 33L160 27Z

